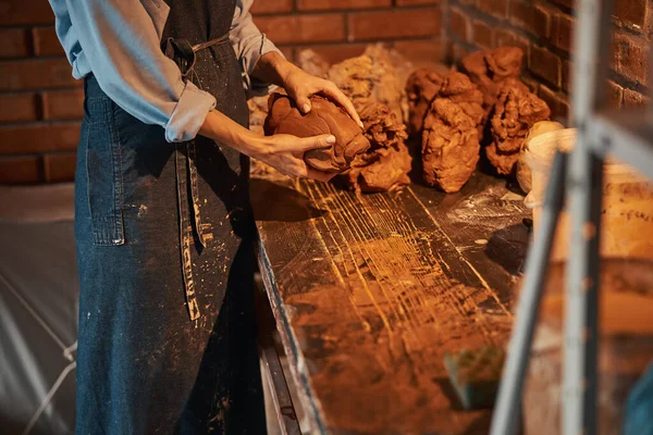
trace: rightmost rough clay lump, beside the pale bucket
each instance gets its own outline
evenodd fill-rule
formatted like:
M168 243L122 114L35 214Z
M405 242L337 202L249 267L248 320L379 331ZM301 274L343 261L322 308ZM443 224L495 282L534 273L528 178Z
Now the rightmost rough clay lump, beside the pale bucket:
M504 82L494 107L492 144L485 147L490 163L502 175L509 175L519 159L528 130L539 121L549 120L551 110L516 78Z

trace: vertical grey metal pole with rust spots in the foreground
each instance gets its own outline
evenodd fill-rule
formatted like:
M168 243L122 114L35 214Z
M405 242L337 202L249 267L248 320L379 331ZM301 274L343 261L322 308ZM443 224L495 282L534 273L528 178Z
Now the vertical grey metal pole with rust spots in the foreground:
M567 262L562 433L596 433L599 391L599 234L602 157L592 154L590 121L605 107L612 0L578 0L572 89L576 148L569 162L571 247Z

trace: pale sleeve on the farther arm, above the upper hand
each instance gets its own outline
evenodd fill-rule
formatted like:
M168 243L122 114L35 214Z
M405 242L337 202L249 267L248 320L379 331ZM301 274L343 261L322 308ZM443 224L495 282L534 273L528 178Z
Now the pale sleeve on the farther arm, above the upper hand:
M263 83L251 76L251 72L259 59L270 51L275 51L283 57L283 53L264 34L261 34L256 24L254 24L251 13L249 12L252 2L254 0L236 1L236 10L230 33L232 47L243 69L243 86L248 98L266 95L273 88L273 85Z

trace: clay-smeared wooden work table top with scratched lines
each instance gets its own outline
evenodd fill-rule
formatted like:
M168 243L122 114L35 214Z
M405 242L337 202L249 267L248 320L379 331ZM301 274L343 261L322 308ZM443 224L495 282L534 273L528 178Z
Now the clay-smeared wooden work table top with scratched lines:
M521 197L475 174L458 194L356 195L252 179L259 262L310 433L485 434L445 351L505 346L528 231Z

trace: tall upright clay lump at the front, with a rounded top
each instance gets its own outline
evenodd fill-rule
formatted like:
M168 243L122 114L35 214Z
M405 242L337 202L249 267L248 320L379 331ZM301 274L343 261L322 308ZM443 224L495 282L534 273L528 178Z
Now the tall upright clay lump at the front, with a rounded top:
M423 178L446 192L458 191L479 161L476 122L446 98L433 100L422 132Z

